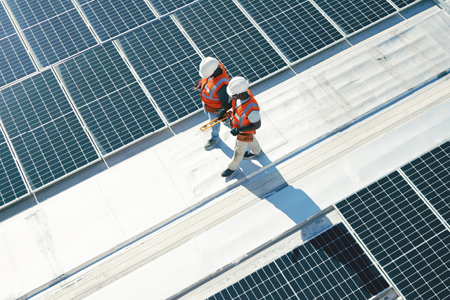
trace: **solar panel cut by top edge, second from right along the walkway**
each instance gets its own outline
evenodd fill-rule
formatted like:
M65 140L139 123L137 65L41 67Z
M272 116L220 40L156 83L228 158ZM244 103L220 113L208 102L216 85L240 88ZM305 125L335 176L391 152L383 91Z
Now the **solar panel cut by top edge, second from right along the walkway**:
M314 2L345 34L356 32L397 11L389 2L383 0L314 0Z

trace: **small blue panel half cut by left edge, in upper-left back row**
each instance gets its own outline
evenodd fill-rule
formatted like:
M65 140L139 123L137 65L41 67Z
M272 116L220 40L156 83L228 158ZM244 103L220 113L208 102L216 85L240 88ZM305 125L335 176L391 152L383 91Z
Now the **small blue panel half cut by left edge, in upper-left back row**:
M18 34L0 39L0 86L36 72Z

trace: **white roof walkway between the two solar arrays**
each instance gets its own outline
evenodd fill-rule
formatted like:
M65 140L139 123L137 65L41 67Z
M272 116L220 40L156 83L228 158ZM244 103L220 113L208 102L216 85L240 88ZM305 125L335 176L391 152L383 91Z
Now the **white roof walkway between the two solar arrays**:
M433 6L258 86L264 155L231 179L219 174L235 138L222 126L205 151L198 122L37 195L0 223L0 299L214 294L205 279L450 138L449 27Z

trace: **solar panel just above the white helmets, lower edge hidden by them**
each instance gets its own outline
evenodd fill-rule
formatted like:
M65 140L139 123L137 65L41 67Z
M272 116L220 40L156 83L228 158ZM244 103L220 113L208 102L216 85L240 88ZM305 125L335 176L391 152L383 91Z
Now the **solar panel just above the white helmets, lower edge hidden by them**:
M287 65L231 0L203 0L174 16L203 55L217 58L230 77L257 81Z

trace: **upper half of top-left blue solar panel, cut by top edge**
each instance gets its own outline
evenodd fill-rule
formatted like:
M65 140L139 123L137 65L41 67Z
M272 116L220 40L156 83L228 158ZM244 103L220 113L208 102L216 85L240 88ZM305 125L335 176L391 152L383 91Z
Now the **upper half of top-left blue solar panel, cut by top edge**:
M70 0L5 0L19 27L25 30L74 9Z

